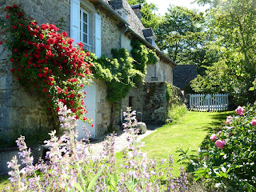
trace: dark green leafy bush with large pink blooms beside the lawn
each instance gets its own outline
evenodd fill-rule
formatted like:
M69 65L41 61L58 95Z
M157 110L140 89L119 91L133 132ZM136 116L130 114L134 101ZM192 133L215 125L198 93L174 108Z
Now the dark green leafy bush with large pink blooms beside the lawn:
M191 166L195 180L206 179L225 191L255 191L256 109L238 106L236 113L226 118L221 131L202 142L198 156L190 157Z

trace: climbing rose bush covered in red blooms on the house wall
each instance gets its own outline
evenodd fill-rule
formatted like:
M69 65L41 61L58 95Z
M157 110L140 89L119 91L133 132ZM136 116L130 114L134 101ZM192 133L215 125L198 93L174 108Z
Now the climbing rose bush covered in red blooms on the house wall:
M57 115L57 104L63 102L75 118L86 121L86 93L82 88L90 81L92 64L82 43L74 47L74 39L68 38L66 31L60 33L51 24L38 26L16 5L7 6L5 11L1 26L8 37L4 46L12 52L11 73L22 86L43 99L46 110Z

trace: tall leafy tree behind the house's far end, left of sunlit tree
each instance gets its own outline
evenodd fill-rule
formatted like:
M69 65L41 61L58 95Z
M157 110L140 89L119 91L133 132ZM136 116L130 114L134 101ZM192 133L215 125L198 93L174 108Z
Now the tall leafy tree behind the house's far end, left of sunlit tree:
M182 6L170 6L156 34L157 44L166 55L178 64L202 66L206 51L204 17L196 10Z

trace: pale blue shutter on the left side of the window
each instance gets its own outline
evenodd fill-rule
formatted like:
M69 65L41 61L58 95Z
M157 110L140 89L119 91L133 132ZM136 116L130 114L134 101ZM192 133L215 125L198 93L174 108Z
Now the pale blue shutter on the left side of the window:
M70 38L80 42L80 0L70 0Z

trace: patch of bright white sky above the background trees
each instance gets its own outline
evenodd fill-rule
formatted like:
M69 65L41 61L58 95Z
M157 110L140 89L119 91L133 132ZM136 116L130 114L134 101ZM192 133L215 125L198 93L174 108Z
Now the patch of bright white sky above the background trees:
M167 8L170 4L174 6L186 6L189 9L197 9L199 11L205 11L206 6L198 6L198 4L194 2L194 0L146 0L146 2L153 2L158 6L158 14L164 15L167 11Z

